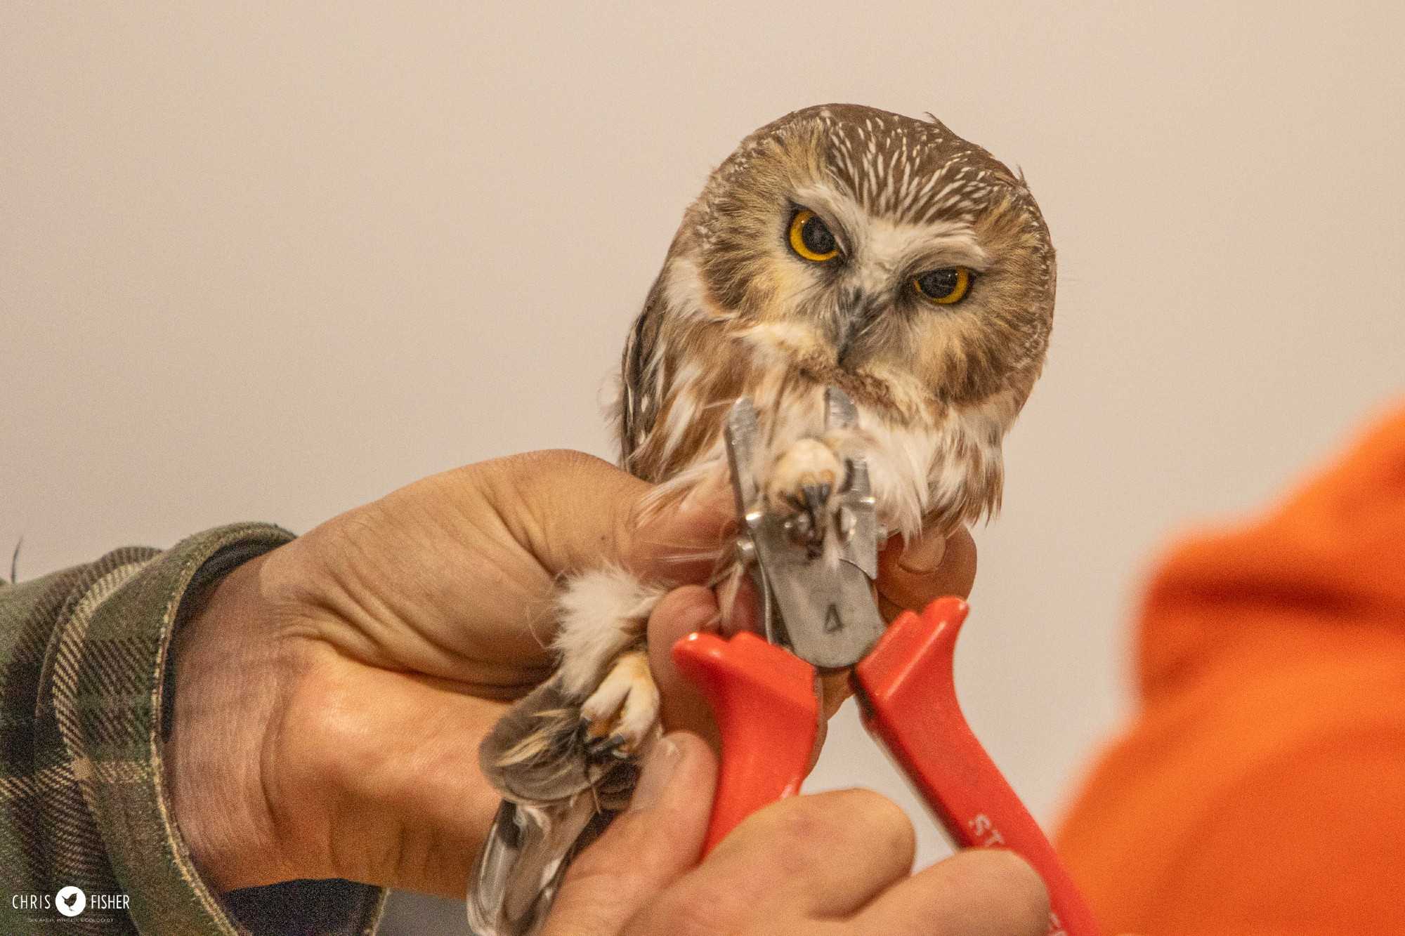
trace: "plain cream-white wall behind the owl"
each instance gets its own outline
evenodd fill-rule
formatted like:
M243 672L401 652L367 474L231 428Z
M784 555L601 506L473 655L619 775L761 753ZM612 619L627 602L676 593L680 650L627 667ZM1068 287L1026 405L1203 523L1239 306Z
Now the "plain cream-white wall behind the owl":
M3 3L0 547L32 578L610 457L597 389L708 169L806 104L932 111L1059 249L958 655L1052 818L1130 711L1158 544L1399 396L1402 37L1388 0ZM851 713L815 777L849 784L903 795Z

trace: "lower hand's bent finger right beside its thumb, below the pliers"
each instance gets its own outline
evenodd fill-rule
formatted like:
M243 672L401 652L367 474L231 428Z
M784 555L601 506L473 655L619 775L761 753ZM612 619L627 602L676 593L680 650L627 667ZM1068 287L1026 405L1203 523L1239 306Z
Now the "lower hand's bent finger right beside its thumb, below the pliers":
M677 932L687 921L690 933L733 933L762 919L773 922L767 932L792 932L857 911L906 877L912 854L912 822L877 793L781 800L736 826L627 932Z

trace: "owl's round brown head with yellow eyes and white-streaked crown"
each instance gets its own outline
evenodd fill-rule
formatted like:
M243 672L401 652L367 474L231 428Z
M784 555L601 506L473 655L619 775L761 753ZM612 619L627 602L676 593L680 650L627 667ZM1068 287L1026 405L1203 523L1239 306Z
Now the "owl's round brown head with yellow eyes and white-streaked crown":
M895 415L995 396L1017 412L1044 363L1054 282L1020 177L936 119L853 104L747 136L660 277L673 313L724 323Z

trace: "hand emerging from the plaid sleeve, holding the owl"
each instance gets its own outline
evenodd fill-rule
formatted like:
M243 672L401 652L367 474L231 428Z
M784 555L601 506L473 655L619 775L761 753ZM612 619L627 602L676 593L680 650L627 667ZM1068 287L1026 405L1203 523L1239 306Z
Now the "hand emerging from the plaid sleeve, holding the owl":
M177 638L167 784L215 887L344 877L462 895L497 805L478 742L549 670L561 575L613 562L691 583L651 645L712 625L732 523L705 489L641 526L652 488L577 453L468 465L350 510L232 572ZM960 533L884 551L884 610L965 594ZM702 614L705 611L705 616ZM665 724L710 715L656 655Z

